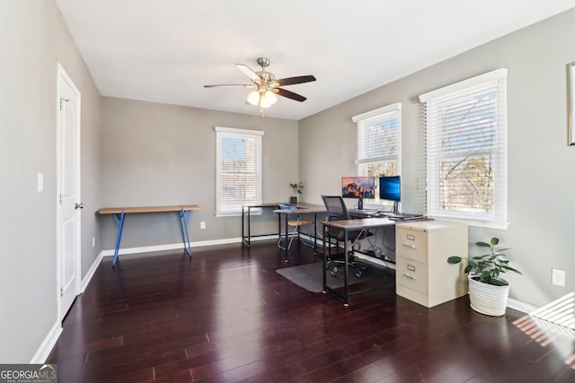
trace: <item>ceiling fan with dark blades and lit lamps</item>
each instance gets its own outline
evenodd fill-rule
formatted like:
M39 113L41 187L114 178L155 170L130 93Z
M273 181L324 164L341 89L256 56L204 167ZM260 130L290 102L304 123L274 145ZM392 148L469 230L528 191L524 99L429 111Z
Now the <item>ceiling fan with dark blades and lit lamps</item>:
M238 87L238 86L243 88L255 88L255 90L252 91L248 96L247 102L249 102L252 105L259 105L260 108L270 108L270 106L273 105L278 100L276 94L296 101L307 100L304 96L300 94L279 87L285 85L295 85L297 83L309 83L315 81L315 77L313 75L310 74L304 76L276 79L276 76L274 74L266 70L268 65L270 65L269 58L259 57L256 60L256 63L261 66L261 71L254 72L248 65L244 64L235 65L243 74L245 74L250 78L252 83L204 85L204 88Z

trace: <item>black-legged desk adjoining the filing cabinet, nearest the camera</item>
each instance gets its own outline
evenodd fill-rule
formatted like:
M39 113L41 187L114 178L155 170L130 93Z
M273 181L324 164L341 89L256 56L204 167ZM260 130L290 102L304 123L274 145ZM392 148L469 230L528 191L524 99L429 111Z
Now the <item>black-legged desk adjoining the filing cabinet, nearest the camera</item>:
M293 211L292 211L293 212ZM366 292L371 289L364 289L356 292L349 292L348 284L348 265L349 265L349 231L367 231L383 226L394 226L395 222L388 218L361 218L357 220L342 220L342 221L328 221L323 222L323 292L333 292L340 298L343 298L344 306L349 306L349 296L358 294L359 292ZM326 250L325 242L327 242L328 229L337 229L344 232L343 251L344 251L344 267L343 267L343 294L337 292L327 285L326 275Z

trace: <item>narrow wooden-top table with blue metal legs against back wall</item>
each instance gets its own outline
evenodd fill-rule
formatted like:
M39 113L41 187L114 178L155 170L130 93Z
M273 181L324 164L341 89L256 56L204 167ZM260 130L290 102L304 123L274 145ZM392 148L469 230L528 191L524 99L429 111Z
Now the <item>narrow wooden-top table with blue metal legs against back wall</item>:
M114 249L114 258L111 266L116 265L118 260L119 242L122 239L124 230L124 221L127 213L172 213L178 212L180 216L181 240L186 252L191 257L190 234L188 232L188 222L192 210L199 210L199 205L173 205L173 206L142 206L142 207L105 207L98 212L101 215L111 214L114 223L118 227L118 236L116 237L116 248Z

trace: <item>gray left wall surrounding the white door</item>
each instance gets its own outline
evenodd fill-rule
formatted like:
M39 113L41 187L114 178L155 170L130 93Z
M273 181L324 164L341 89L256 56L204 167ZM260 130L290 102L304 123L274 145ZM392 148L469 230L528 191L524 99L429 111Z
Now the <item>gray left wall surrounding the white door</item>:
M82 93L83 275L100 252L100 95L53 1L0 2L0 36L0 362L28 362L57 325L57 63Z

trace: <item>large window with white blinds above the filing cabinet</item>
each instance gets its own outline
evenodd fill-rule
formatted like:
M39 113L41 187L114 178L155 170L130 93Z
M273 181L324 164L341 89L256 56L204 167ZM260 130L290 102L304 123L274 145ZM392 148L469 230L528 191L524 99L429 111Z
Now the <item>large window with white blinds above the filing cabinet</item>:
M429 216L506 227L506 83L498 69L420 95Z

